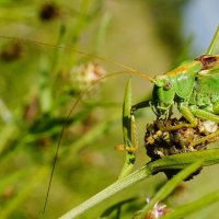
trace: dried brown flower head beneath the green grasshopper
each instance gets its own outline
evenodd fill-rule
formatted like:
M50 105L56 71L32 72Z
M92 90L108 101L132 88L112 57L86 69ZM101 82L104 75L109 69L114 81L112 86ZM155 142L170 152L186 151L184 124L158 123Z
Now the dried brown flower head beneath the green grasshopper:
M151 161L171 154L206 150L208 143L219 140L219 128L215 122L198 119L196 127L183 127L182 124L187 124L183 117L157 119L153 124L147 125L145 142ZM177 172L177 170L164 171L168 177Z

